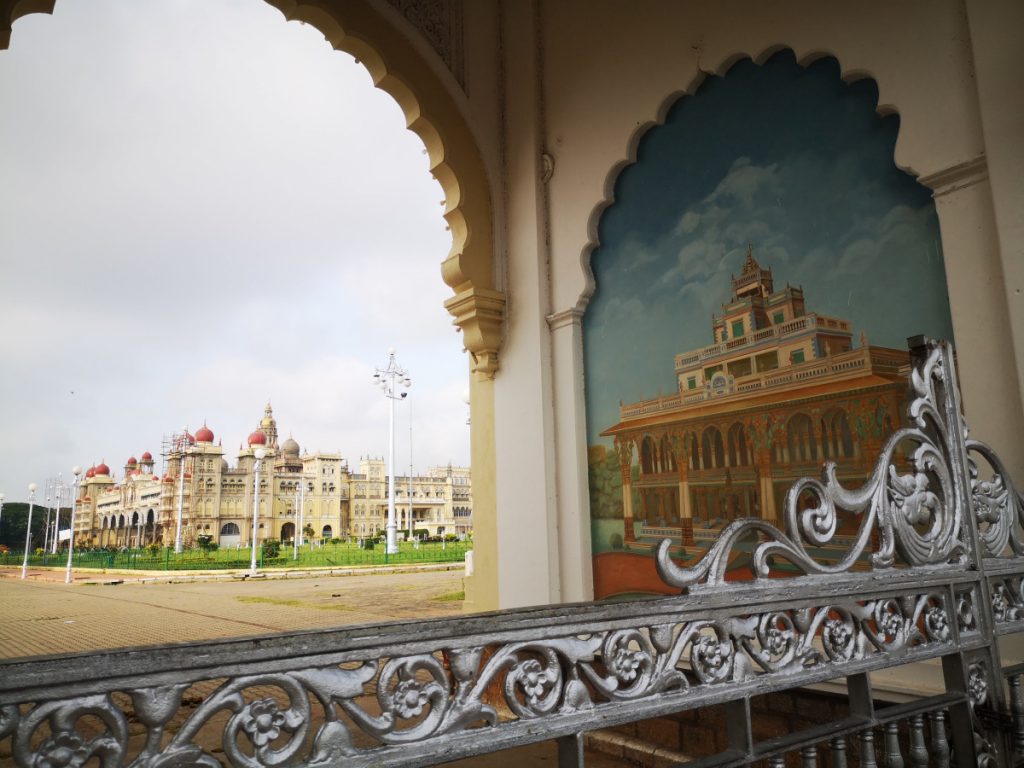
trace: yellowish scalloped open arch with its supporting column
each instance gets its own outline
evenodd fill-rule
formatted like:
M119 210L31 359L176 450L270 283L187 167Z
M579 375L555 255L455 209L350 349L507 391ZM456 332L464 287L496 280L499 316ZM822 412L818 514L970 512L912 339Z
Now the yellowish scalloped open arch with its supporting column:
M414 28L379 0L254 0L276 8L286 20L308 24L335 50L353 56L375 87L400 108L406 127L423 141L430 172L444 193L442 216L452 249L440 275L452 289L445 302L469 354L470 441L474 473L476 609L498 607L497 502L494 378L505 324L499 290L495 207L480 142L465 115L465 94L454 78L437 74L434 54L414 41ZM0 51L9 47L13 23L32 13L52 14L58 0L0 0Z

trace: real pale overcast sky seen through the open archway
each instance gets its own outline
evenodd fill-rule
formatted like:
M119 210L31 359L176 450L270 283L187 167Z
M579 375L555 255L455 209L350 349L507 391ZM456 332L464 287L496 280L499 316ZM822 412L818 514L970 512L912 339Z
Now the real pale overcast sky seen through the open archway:
M206 422L469 460L451 240L423 145L314 29L256 0L61 0L0 52L0 490Z

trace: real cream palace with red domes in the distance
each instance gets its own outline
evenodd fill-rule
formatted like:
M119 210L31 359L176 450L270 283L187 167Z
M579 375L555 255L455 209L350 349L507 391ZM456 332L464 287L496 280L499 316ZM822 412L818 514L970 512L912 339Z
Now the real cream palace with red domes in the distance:
M103 463L90 467L79 485L75 516L77 546L173 545L180 503L183 539L210 536L221 547L251 543L256 450L265 458L259 476L258 541L290 541L300 519L314 540L373 537L387 521L387 474L382 459L361 459L350 472L340 454L300 453L289 437L279 443L267 404L257 428L228 465L213 431L184 433L166 453L163 474L153 455L125 463L115 481ZM301 505L301 518L299 514ZM430 536L469 534L472 487L466 467L435 467L426 475L395 476L395 505L402 530Z

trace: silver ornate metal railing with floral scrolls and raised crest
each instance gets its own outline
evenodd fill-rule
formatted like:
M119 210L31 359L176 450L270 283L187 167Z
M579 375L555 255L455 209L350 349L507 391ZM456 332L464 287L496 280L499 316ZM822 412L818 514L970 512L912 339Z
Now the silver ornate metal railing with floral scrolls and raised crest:
M844 488L826 465L793 486L783 529L734 522L693 567L663 544L677 597L5 663L0 756L426 766L557 739L568 766L583 764L588 731L724 706L728 749L695 765L797 755L843 768L849 754L870 768L877 750L890 768L904 753L914 768L1010 765L1024 745L1021 670L1002 670L998 643L1024 630L1024 503L967 436L951 350L912 352L910 426L868 481ZM859 530L819 562L841 511ZM740 545L755 579L727 583ZM773 579L783 561L790 578ZM870 673L928 659L943 693L876 709ZM848 715L755 738L752 699L826 681L845 685Z

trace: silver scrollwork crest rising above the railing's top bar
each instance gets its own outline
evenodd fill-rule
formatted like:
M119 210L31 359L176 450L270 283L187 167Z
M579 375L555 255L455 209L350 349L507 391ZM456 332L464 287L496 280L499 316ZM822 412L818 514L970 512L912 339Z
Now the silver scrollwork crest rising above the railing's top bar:
M957 471L963 461L963 423L958 408L950 411L944 407L945 398L952 394L948 390L954 387L946 381L952 371L950 354L948 347L933 344L925 362L913 370L914 398L909 408L913 426L899 429L889 438L864 485L856 489L844 487L837 477L835 462L827 462L822 479L805 477L791 486L785 499L784 532L770 522L736 520L725 527L700 561L688 568L673 562L669 555L671 542L665 541L657 551L662 579L682 588L721 587L731 554L740 542L752 537L762 540L753 550L754 572L759 579L772 574L775 559L787 561L808 574L845 573L861 562L869 549L874 568L894 566L897 556L899 563L907 566L966 563L963 479ZM950 413L954 418L950 419ZM906 453L908 444L913 450L904 462L897 463L897 456ZM983 450L980 443L973 446ZM997 462L994 455L992 461ZM911 471L901 471L901 464L907 464ZM976 483L976 498L992 501L996 510L1009 506L1004 498L999 507L999 497L993 496L994 486L1002 487L1000 475L986 484L988 496L984 496L981 485ZM979 503L975 502L975 506ZM841 510L860 518L853 546L839 562L821 562L811 550L833 543ZM1009 536L1002 532L1008 526L1000 524L1007 515L995 514L997 520L989 525L993 546L1000 537ZM878 534L877 538L873 534Z

